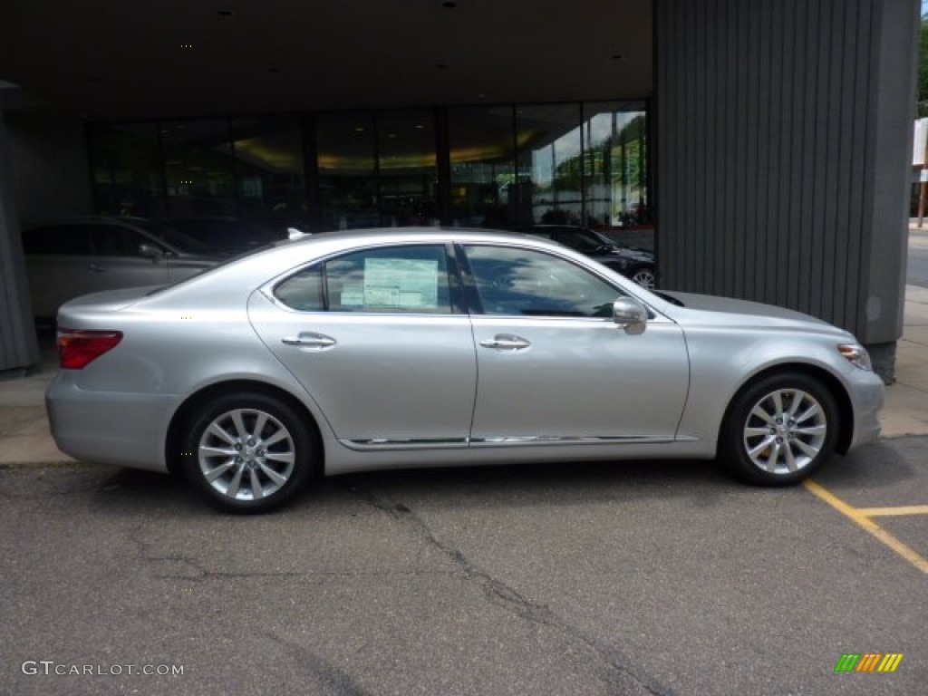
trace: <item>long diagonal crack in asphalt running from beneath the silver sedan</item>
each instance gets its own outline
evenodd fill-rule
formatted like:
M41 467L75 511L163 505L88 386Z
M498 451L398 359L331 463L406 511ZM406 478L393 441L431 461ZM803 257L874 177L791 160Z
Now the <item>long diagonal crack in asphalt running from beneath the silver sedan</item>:
M385 512L396 520L410 523L418 531L420 538L438 548L452 561L455 561L467 580L482 586L486 598L496 606L514 612L526 621L561 631L561 633L579 640L587 648L599 655L599 658L617 672L619 676L631 679L648 693L654 696L674 696L672 690L664 687L650 675L638 674L632 671L627 666L628 661L620 653L612 650L609 646L603 645L598 638L589 636L579 627L569 624L560 615L553 612L547 604L533 602L514 587L496 579L475 562L470 561L459 548L438 538L429 524L403 503L395 503L377 496L372 491L361 488L356 484L349 484L346 487L350 493L353 493L372 508ZM609 681L613 683L613 686L621 689L622 685L614 683L614 678L610 678Z

